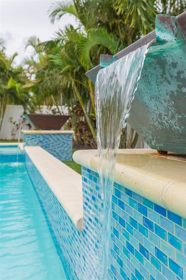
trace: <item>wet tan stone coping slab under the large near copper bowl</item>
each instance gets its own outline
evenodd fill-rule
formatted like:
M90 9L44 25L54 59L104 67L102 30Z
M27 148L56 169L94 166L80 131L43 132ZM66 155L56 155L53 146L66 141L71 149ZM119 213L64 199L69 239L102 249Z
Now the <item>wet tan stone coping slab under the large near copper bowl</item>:
M99 173L97 150L78 150L73 160ZM185 160L184 155L166 157L152 149L119 149L114 181L186 218Z

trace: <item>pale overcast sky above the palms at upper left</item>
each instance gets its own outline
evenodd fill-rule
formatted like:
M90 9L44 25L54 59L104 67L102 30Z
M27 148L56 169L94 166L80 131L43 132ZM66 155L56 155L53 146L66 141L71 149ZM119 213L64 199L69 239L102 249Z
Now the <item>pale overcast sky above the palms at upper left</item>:
M17 52L15 61L20 64L33 49L25 50L25 42L30 36L37 36L41 41L54 37L58 29L66 24L77 27L74 16L64 15L55 24L50 22L47 11L55 0L0 0L0 37L5 40L8 56Z

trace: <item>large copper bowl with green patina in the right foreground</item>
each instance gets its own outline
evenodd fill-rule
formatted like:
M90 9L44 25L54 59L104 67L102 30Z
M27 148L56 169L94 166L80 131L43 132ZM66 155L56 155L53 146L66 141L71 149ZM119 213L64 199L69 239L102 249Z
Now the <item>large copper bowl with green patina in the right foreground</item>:
M151 148L186 153L186 12L178 17L157 15L154 31L114 56L101 55L100 66L148 42L127 121ZM86 73L92 82L98 68Z

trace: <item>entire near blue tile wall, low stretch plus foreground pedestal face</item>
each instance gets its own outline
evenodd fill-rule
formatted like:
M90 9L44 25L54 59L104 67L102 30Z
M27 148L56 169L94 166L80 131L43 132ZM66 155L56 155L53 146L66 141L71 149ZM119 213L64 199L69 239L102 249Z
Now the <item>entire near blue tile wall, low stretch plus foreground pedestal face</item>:
M68 279L100 280L99 175L82 167L84 229L76 229L40 173L26 164ZM115 183L109 280L186 280L186 220ZM106 279L105 279L106 280Z

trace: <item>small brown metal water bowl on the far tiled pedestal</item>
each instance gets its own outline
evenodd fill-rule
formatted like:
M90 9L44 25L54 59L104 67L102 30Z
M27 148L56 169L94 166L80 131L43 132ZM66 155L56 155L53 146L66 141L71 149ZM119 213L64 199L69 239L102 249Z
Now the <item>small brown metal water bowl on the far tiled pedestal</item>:
M42 130L60 130L65 122L69 119L69 115L48 115L48 114L26 114L23 118L28 120L34 129Z

